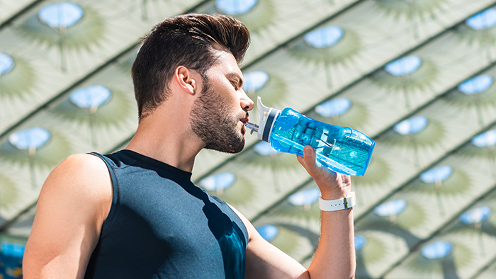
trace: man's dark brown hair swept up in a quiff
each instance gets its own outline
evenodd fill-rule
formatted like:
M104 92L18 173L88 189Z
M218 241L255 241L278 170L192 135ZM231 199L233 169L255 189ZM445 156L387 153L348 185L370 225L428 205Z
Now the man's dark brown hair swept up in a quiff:
M216 62L215 50L229 50L239 64L248 45L248 29L229 16L188 13L155 25L142 38L131 70L140 119L165 101L177 67L196 70L208 81L205 72Z

